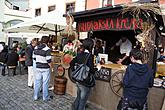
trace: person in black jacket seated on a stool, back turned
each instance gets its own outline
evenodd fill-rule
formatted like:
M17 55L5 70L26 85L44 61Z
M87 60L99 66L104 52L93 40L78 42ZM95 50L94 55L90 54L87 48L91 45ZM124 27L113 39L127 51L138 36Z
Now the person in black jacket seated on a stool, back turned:
M15 48L11 49L7 56L7 69L8 75L14 76L16 75L16 67L18 65L19 55L17 54L17 50Z

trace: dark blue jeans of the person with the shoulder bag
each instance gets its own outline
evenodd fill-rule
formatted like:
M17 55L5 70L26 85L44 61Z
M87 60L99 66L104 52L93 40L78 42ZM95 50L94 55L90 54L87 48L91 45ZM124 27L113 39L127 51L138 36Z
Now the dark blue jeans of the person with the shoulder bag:
M85 105L88 100L90 91L91 87L77 84L77 97L72 105L73 110L85 110Z

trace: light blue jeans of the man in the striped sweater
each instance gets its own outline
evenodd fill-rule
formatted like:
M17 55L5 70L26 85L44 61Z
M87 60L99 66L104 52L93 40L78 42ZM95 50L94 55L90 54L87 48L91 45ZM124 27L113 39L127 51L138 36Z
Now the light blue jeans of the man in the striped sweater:
M36 68L35 76L34 76L34 100L37 100L39 97L40 88L42 85L43 92L43 100L49 100L49 80L50 80L50 69L39 69Z

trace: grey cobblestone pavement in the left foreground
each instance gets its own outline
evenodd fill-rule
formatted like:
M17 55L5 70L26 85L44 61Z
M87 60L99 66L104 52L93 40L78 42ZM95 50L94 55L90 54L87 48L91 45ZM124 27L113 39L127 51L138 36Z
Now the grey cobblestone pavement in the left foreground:
M27 86L27 74L14 77L0 74L0 110L71 110L74 98L70 95L55 95L48 102L33 101L33 89ZM87 110L100 110L88 103Z

